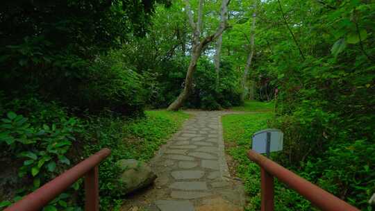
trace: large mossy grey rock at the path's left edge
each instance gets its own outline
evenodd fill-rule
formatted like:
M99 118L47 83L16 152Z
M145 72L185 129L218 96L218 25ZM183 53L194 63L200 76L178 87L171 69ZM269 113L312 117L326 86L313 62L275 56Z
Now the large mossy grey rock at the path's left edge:
M122 170L122 174L118 178L120 183L120 187L118 188L122 189L124 194L151 185L153 180L157 177L156 174L151 171L149 165L142 161L124 159L117 161L116 164Z

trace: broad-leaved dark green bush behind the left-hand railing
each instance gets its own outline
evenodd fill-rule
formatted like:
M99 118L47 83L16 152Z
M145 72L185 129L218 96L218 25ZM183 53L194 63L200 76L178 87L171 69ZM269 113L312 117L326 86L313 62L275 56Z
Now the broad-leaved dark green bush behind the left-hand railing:
M82 128L78 119L68 117L56 103L42 103L37 98L30 98L10 102L1 99L1 104L5 105L4 110L10 106L18 114L8 111L1 115L0 155L6 163L1 186L13 191L0 192L0 200L6 200L0 207L18 201L65 171L71 164L68 153L76 142L75 134ZM13 171L15 168L18 171ZM76 183L74 188L78 187ZM68 208L74 202L71 194L70 191L61 194L44 210Z

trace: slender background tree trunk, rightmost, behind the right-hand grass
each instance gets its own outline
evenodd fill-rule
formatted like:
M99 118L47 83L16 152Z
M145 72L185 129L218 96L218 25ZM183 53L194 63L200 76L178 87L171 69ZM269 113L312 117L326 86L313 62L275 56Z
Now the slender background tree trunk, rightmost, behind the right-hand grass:
M242 101L247 97L249 88L247 87L247 76L249 75L249 69L251 67L251 62L253 60L254 55L254 38L255 38L255 27L256 27L256 4L254 4L254 12L253 12L253 22L251 24L250 28L250 53L249 56L247 56L247 62L246 66L244 67L244 74L242 76L242 89L243 93L241 96Z

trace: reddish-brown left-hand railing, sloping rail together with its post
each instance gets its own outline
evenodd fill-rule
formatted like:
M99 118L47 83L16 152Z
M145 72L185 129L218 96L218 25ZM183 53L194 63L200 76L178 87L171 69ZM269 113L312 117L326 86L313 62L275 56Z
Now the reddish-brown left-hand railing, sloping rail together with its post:
M110 155L110 149L101 149L101 151L91 155L86 160L76 164L71 169L65 171L60 176L49 181L31 194L4 211L36 211L41 210L50 201L73 185L79 178L85 176L85 210L99 210L99 175L98 164Z

